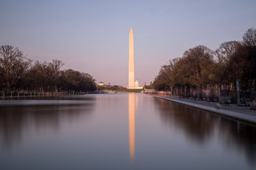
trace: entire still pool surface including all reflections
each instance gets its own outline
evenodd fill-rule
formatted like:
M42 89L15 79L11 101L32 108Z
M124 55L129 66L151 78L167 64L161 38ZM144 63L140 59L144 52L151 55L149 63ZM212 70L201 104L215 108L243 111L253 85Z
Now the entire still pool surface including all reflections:
M256 169L256 128L145 94L1 100L0 169Z

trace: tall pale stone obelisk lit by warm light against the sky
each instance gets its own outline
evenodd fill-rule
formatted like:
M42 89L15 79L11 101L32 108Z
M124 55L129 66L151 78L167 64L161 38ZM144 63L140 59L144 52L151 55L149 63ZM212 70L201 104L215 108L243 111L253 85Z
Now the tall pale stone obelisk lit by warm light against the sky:
M132 27L129 32L129 86L128 89L135 88L134 81L134 40Z

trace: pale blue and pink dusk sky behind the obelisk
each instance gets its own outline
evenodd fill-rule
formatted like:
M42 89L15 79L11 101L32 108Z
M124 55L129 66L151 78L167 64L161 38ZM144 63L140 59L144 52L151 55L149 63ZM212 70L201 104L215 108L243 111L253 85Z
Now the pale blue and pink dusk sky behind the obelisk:
M33 61L61 60L62 69L96 82L128 86L129 30L135 79L150 81L161 65L198 45L216 50L256 28L255 0L61 1L1 0L0 45ZM189 64L188 64L189 67Z

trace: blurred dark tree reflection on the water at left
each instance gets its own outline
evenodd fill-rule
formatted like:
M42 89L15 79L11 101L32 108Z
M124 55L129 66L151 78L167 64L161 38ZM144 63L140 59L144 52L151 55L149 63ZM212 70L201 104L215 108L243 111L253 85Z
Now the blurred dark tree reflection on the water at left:
M0 106L0 146L9 148L29 132L58 130L64 122L90 115L94 103Z

